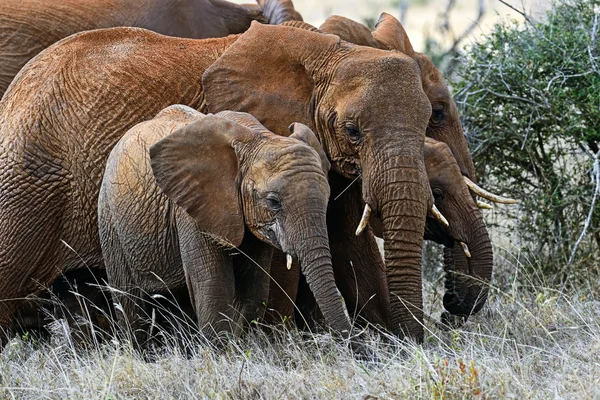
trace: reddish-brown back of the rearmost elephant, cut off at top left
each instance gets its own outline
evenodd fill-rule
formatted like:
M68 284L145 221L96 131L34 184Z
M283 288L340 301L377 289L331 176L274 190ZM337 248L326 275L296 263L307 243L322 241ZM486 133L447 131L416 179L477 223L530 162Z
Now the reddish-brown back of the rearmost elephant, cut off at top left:
M203 39L242 33L254 20L302 19L291 0L239 5L225 0L2 0L0 98L36 54L77 32L131 26Z

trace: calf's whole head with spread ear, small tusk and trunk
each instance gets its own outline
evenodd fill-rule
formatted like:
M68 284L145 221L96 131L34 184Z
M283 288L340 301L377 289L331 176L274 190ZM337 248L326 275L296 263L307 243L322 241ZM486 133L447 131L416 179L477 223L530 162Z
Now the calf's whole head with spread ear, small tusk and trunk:
M329 162L309 128L290 128L282 137L245 113L205 116L150 147L152 171L201 231L240 246L248 230L296 258L327 322L348 334L325 223Z

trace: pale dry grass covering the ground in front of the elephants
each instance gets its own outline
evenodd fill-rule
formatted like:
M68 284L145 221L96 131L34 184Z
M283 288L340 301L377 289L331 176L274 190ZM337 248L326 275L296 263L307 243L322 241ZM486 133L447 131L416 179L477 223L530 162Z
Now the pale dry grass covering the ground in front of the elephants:
M497 254L502 287L480 315L438 329L441 280L428 283L425 343L372 332L378 362L329 334L258 329L220 350L192 339L186 354L168 337L147 362L115 338L75 346L55 321L50 340L14 339L0 355L0 398L600 398L597 278L578 293L524 287L520 263Z

